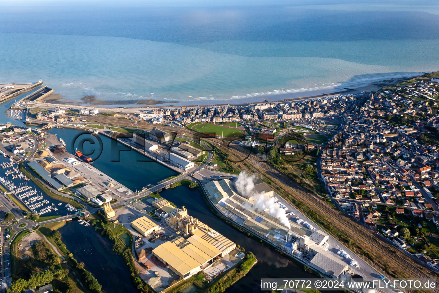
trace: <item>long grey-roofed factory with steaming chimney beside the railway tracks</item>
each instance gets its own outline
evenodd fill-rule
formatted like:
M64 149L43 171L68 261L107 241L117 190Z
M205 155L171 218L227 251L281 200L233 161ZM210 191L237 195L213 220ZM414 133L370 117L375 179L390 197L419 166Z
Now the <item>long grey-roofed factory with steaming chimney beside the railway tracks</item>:
M286 207L277 202L276 195L268 185L254 178L252 192L241 195L237 191L237 184L229 179L220 179L209 181L203 188L209 200L224 216L322 275L338 279L349 271L349 264L356 264L354 260L331 252L328 249L329 236L316 230L312 223L282 210L282 217L270 215L274 205L277 210ZM263 205L260 205L261 202ZM258 208L258 205L265 208Z

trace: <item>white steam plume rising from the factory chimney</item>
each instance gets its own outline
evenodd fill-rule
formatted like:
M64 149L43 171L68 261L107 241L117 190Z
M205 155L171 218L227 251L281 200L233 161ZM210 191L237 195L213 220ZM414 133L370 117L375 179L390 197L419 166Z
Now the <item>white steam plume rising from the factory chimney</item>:
M236 189L241 195L253 196L255 197L255 203L252 209L265 210L270 216L277 217L281 224L286 226L288 229L291 228L290 222L286 215L286 211L279 206L279 203L274 202L274 197L268 197L262 193L258 193L255 190L255 184L253 183L253 175L247 174L242 171L235 183Z

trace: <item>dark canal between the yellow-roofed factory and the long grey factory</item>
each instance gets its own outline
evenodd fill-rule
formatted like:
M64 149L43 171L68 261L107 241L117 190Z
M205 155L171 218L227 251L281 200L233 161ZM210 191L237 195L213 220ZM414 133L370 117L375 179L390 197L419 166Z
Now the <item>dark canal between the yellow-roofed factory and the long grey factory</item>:
M160 192L160 195L173 202L176 206L185 206L189 215L198 218L228 239L244 247L245 250L255 254L258 263L255 264L244 278L227 289L228 293L260 292L259 284L262 278L317 278L270 248L248 238L243 233L221 221L205 205L201 193L197 190L178 186L166 189Z

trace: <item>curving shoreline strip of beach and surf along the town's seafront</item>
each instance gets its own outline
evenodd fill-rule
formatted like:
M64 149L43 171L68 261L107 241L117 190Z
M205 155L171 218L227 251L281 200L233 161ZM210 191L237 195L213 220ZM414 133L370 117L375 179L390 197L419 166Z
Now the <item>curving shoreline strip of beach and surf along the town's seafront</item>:
M97 103L97 98L93 97L93 103L84 103L87 100L87 97L84 96L82 98L78 98L75 100L71 100L65 97L62 97L61 94L51 94L53 98L45 99L45 103L50 103L54 105L75 105L75 106L85 106L92 108L103 108L103 109L117 109L117 108L125 108L125 109L148 109L148 108L169 108L169 107L216 107L216 106L225 106L225 105L251 105L258 103L266 103L266 102L286 102L286 101L302 101L312 98L322 98L322 97L331 97L339 94L356 94L361 91L371 92L377 91L383 87L395 86L398 83L401 83L405 80L410 80L414 77L420 76L422 72L414 72L413 74L407 74L405 76L383 76L380 79L371 81L367 85L363 85L360 87L333 87L324 89L316 89L316 90L301 90L295 92L284 92L279 91L276 93L275 91L266 93L266 94L248 94L248 96L237 96L235 98L218 98L218 99L209 99L209 100L188 100L188 101L156 101L156 100L127 100L128 104L122 104L123 101L115 100L115 101L105 101L101 100L102 104L99 105ZM341 87L341 86L340 86ZM329 92L329 93L328 93ZM101 98L102 99L102 98ZM105 98L104 98L105 99ZM77 104L81 103L81 104ZM121 103L121 104L119 104ZM111 105L109 105L111 104Z

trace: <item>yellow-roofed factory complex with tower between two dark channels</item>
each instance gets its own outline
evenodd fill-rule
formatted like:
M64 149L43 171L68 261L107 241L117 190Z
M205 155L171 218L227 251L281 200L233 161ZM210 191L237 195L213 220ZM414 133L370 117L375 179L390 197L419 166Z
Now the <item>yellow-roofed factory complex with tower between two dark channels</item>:
M188 215L184 206L175 208L162 198L155 199L152 204L157 208L156 214L161 215L161 224L156 224L147 216L131 223L131 227L142 236L142 240L138 241L136 246L137 254L145 256L139 257L140 261L159 264L158 266L171 270L171 280L176 280L172 275L179 279L187 279L199 271L214 277L219 271L225 271L234 265L228 259L234 250L234 255L240 252L236 243ZM240 259L236 260L235 263ZM151 267L154 268L152 265ZM153 272L151 269L151 274ZM160 278L157 277L160 282L164 282L163 272L159 270L157 275L160 275ZM150 279L157 282L154 275ZM153 284L152 281L148 284L157 288L157 284ZM166 288L164 284L162 286L158 291Z

